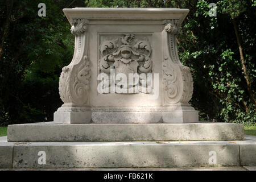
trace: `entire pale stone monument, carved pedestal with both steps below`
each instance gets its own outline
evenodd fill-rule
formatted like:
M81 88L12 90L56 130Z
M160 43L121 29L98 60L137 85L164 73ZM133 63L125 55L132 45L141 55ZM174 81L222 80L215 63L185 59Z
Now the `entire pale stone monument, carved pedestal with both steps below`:
M5 166L209 166L212 154L224 166L246 161L239 143L205 141L243 140L243 125L199 122L188 104L192 76L176 45L188 9L63 11L75 35L73 59L60 74L64 104L53 122L8 126L8 142L0 142L10 151Z

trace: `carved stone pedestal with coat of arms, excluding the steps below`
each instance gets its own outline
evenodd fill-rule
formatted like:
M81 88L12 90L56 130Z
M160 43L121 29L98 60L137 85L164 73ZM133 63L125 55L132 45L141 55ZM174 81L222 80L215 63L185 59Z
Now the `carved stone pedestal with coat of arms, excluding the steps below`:
M187 9L64 9L75 52L55 123L195 123L193 82L177 55ZM125 82L123 82L125 81Z

